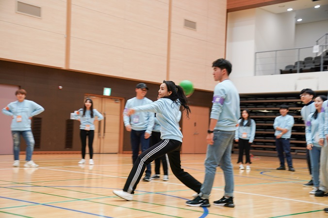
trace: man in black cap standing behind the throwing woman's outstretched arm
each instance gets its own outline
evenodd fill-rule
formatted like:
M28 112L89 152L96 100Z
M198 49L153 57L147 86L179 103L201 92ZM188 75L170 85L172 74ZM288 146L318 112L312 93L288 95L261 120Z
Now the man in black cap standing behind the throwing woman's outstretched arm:
M139 83L135 87L136 96L129 99L125 104L123 112L123 122L125 129L131 132L131 148L132 148L132 163L134 164L139 155L139 145L141 143L141 151L144 152L149 148L150 136L154 126L155 113L152 112L137 112L132 116L127 116L126 109L148 105L152 100L146 96L148 87L145 83ZM143 181L149 182L151 174L151 166L147 165L146 176Z

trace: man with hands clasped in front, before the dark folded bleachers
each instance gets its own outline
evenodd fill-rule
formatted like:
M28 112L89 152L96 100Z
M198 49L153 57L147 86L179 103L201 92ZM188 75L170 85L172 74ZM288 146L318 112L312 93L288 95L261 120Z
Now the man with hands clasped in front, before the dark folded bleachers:
M286 170L285 168L285 157L286 155L288 170L295 171L293 167L293 160L291 155L291 145L289 139L292 136L292 127L294 126L294 117L288 115L289 107L287 105L281 105L279 109L279 113L281 116L275 118L275 122L273 123L273 128L275 131L276 137L276 147L277 153L280 160L280 167L277 170Z

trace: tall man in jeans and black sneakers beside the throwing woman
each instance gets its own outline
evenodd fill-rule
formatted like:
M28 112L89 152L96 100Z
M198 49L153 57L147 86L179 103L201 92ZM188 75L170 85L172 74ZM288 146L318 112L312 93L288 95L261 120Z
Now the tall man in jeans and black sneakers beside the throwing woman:
M234 207L231 150L237 121L240 117L240 99L236 87L229 79L231 63L221 58L214 61L212 67L214 80L219 83L214 88L210 126L206 137L208 146L205 159L205 179L198 196L194 200L187 201L186 204L210 207L209 197L216 167L220 165L224 172L226 186L224 196L220 200L214 201L213 204Z

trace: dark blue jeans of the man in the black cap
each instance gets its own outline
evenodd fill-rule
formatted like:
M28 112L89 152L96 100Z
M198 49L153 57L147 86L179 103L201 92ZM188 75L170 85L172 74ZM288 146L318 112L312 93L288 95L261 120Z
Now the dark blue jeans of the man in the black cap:
M131 148L132 148L132 163L134 164L139 155L139 145L141 143L141 152L149 148L150 138L145 139L146 130L131 130ZM146 175L150 176L151 166L150 163L146 166Z

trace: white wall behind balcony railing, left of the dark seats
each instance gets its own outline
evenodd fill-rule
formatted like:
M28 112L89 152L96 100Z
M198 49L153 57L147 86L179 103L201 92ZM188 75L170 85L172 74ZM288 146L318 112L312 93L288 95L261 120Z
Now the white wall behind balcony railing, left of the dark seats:
M274 14L256 9L255 52L293 48L295 44L295 12ZM294 63L295 52L280 53L284 58L276 59L276 52L258 53L256 56L256 75L279 74L289 63ZM288 60L289 59L289 60Z

